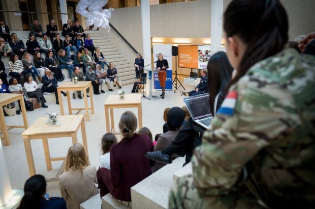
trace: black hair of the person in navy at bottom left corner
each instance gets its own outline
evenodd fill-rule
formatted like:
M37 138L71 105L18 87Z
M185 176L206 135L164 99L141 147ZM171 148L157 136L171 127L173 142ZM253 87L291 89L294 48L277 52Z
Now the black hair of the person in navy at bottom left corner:
M46 191L46 180L42 175L34 175L24 185L24 196L18 209L38 209L38 201Z

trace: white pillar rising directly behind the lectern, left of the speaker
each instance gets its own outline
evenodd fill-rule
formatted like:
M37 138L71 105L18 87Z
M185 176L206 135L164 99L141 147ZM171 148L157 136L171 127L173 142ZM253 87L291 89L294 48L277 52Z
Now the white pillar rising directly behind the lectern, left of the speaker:
M141 0L141 23L142 23L142 43L143 43L143 59L144 65L148 65L151 63L151 27L150 27L150 1L149 0ZM147 67L151 69L151 66ZM148 73L149 74L149 73ZM147 76L149 78L149 76ZM152 97L152 79L150 81L150 97Z

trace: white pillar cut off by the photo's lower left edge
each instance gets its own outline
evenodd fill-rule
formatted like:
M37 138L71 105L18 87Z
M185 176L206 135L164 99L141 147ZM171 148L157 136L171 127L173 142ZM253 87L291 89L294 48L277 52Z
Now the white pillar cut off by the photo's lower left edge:
M8 171L4 160L2 144L0 142L0 207L8 204L13 197Z

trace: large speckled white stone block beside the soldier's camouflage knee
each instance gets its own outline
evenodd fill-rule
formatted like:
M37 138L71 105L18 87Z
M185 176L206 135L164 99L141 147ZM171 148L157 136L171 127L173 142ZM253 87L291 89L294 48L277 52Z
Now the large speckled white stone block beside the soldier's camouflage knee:
M173 185L173 174L179 171L185 157L176 158L140 183L131 187L132 208L135 209L166 209L168 195Z

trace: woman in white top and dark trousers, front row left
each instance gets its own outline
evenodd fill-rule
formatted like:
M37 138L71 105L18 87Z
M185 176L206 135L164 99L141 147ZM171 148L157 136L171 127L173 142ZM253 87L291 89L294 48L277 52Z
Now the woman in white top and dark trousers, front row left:
M26 74L24 76L24 89L29 98L37 98L38 103L41 103L41 107L47 108L48 106L45 104L46 100L41 92L41 89L38 88L38 85L35 81L33 81L32 76L30 74Z

